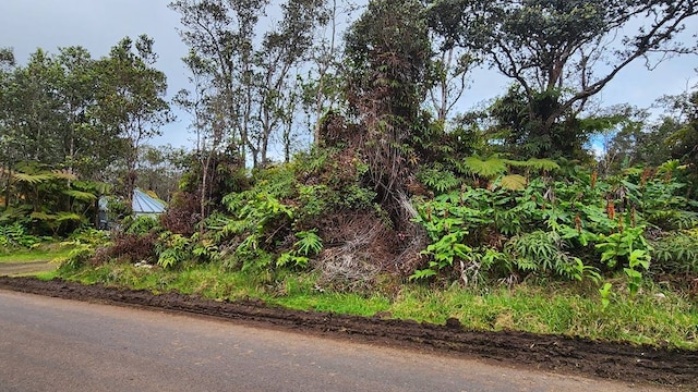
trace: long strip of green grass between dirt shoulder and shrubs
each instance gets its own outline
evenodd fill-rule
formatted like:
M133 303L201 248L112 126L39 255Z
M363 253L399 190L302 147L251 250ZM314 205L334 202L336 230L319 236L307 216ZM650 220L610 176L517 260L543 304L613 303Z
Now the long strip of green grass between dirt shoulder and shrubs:
M214 299L260 298L292 309L359 316L383 313L432 323L444 323L454 317L473 330L518 330L698 350L695 299L651 283L640 294L629 296L622 283L616 282L611 303L604 308L597 287L589 284L552 287L520 284L513 290L476 291L458 285L435 290L408 283L362 295L317 290L317 277L312 273L262 274L260 278L260 274L230 272L217 265L189 266L176 272L108 264L94 269L63 269L58 275L83 283L103 282L155 293L177 290Z

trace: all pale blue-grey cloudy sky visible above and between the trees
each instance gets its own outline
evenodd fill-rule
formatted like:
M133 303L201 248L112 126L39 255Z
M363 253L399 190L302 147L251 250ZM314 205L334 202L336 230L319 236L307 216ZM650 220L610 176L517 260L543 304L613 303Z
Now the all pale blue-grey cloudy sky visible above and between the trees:
M157 68L168 77L168 95L186 88L181 58L186 47L177 27L179 15L167 8L170 0L0 0L0 48L11 47L24 64L37 48L57 53L58 48L83 46L93 58L106 56L121 38L146 34L155 39ZM698 33L698 17L689 20L687 30ZM663 95L677 95L698 83L698 57L682 57L647 71L642 62L623 70L599 96L602 105L630 103L649 108ZM462 107L470 108L504 93L507 81L493 71L480 70L467 91ZM189 119L164 128L156 144L191 147Z

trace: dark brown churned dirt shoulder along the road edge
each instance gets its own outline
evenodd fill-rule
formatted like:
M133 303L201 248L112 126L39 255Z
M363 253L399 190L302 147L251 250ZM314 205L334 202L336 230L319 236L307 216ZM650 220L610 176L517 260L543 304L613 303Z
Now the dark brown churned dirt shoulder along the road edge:
M461 329L456 320L437 326L289 310L260 301L230 303L177 293L154 295L147 291L129 291L101 284L86 286L61 280L0 277L0 289L67 299L183 311L390 346L465 354L556 372L698 389L698 352L691 351L515 331L468 331Z

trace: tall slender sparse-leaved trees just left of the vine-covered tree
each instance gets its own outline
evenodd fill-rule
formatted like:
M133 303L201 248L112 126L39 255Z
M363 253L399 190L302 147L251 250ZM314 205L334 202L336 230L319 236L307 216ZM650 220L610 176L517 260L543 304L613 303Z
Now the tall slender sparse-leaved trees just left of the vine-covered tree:
M314 32L325 21L324 0L287 0L278 4L281 19L262 29L266 0L178 0L180 32L190 47L190 64L205 65L214 88L207 95L222 105L221 123L243 161L253 167L268 160L272 143L289 135L289 101L294 70L306 60ZM257 34L261 37L257 37ZM194 58L196 58L194 60ZM221 100L222 99L222 100ZM292 126L292 125L291 125Z

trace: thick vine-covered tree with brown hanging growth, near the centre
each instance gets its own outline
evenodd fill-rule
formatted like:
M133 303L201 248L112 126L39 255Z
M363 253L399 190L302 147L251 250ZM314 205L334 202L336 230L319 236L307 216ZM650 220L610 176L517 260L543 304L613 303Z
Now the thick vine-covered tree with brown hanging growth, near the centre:
M407 176L407 142L420 132L420 108L430 87L423 5L371 1L346 36L345 57L346 94L365 128L361 137L374 186L395 206Z

